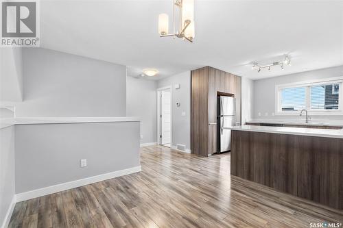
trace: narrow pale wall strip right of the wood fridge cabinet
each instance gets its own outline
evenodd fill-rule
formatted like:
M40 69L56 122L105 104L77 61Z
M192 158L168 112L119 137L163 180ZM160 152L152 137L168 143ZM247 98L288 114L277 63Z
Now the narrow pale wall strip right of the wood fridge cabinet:
M254 99L254 81L241 77L241 125L252 118Z

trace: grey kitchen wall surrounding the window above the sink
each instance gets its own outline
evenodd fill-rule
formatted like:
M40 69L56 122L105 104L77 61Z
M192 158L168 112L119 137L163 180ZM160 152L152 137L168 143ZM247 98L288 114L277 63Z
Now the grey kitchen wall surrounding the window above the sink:
M324 79L328 77L341 77L343 76L343 66L332 68L324 68L317 71L307 71L303 73L296 73L292 75L283 75L279 77L270 77L267 79L259 79L254 81L254 112L253 118L274 118L274 119L289 119L298 118L296 116L272 116L275 112L275 86L279 84L289 84L297 81L306 81L311 79ZM259 112L261 116L259 116ZM268 114L268 116L265 115ZM343 116L312 116L313 119L340 119Z

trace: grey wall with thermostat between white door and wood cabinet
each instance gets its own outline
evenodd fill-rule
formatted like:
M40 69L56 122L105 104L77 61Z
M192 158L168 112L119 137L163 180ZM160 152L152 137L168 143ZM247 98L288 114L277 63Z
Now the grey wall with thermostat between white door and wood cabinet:
M180 89L174 85L180 84ZM157 81L157 88L171 88L171 134L172 145L183 144L191 149L191 72L186 71ZM180 102L180 107L176 106ZM185 116L182 116L185 112Z

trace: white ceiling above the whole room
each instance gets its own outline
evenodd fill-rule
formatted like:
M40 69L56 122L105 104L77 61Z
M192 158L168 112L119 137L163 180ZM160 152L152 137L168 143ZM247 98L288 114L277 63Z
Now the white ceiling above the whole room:
M213 66L260 79L343 65L343 1L195 0L193 43L158 36L158 14L172 0L41 1L40 47L167 77ZM171 24L169 24L169 28ZM252 71L251 62L292 58L284 70Z

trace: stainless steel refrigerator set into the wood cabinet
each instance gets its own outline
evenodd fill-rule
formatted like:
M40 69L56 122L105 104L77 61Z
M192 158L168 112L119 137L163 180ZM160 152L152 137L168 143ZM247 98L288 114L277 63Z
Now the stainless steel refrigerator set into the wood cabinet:
M235 125L236 99L234 97L217 97L217 153L230 151L231 130Z

